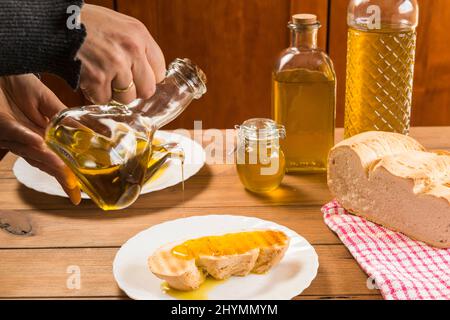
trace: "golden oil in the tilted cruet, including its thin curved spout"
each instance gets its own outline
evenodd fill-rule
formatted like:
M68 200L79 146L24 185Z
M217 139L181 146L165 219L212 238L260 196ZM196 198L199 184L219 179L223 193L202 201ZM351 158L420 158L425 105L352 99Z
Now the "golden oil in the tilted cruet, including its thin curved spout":
M141 192L142 176L144 185L156 181L167 170L169 159L181 161L184 190L184 153L178 145L163 145L159 141L153 141L155 145L149 148L145 133L135 132L136 155L125 163L116 161L117 164L114 164L112 150L113 154L117 152L121 141L130 137L130 132L118 131L115 139L111 140L86 128L59 126L49 130L47 142L52 146L55 145L52 141L57 141L58 147L52 149L57 153L63 152L65 159L67 152L70 153L72 161L67 161L66 164L76 174L82 190L103 210L118 210L133 203Z

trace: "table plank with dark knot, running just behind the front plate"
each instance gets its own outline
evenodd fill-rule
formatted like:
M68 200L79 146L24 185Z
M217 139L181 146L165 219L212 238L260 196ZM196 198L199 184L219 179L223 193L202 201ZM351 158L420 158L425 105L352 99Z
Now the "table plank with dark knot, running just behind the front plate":
M314 207L131 209L119 214L94 210L31 210L17 212L30 219L35 235L14 237L0 232L0 249L119 247L138 232L161 222L190 216L233 214L276 221L295 229L312 244L340 244ZM101 225L101 228L99 228ZM61 241L64 239L64 241Z

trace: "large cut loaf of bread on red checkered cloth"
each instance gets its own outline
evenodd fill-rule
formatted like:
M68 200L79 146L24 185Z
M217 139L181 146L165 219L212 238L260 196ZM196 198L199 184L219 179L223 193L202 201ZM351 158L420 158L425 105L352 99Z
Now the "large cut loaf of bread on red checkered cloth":
M347 211L438 248L450 247L450 155L404 135L367 132L330 152L328 186Z

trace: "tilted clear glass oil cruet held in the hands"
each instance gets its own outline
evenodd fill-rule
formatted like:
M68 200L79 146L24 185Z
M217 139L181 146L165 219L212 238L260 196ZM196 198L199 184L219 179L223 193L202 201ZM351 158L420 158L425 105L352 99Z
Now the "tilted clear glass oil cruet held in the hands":
M46 143L100 208L123 209L162 163L162 158L151 161L155 131L205 93L205 74L190 60L176 59L150 99L65 110L49 124Z

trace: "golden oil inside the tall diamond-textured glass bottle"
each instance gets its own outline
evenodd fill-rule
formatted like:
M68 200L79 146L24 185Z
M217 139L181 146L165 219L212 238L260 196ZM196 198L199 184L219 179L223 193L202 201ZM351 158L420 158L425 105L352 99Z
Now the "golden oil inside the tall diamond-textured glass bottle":
M365 131L409 133L415 47L412 29L349 28L346 138Z

